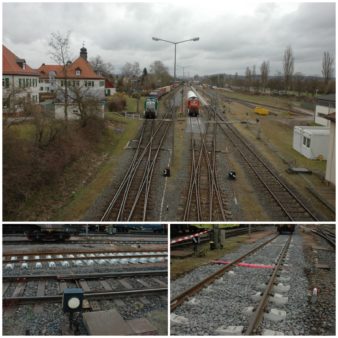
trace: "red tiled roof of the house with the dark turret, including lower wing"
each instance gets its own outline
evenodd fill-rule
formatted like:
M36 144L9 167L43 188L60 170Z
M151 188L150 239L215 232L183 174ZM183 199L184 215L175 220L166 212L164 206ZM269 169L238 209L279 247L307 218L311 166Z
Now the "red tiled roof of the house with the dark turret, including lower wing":
M80 70L80 75L76 75L76 70ZM41 65L38 69L42 77L48 77L50 71L56 73L56 78L63 79L65 77L63 66L60 65ZM67 77L69 79L104 79L103 76L97 75L88 61L82 57L78 57L73 63L67 66Z

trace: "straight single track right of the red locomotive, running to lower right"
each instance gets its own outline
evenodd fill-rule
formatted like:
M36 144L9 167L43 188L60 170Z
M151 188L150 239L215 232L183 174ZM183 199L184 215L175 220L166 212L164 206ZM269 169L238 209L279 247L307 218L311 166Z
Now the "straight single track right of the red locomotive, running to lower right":
M214 108L211 108L215 111ZM215 111L216 113L216 111ZM241 156L245 169L250 174L257 191L266 204L269 201L271 217L278 221L317 221L317 216L304 204L291 188L268 166L252 145L250 145L222 114L217 114L219 128L229 143ZM264 198L263 198L264 197Z

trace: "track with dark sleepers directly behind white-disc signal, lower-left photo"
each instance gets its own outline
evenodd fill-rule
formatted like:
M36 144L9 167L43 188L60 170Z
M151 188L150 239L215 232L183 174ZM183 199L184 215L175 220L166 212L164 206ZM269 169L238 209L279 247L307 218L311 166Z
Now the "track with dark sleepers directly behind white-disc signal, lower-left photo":
M66 288L81 288L84 299L107 300L128 296L166 295L167 270L71 275L3 277L3 304L13 306L62 301Z

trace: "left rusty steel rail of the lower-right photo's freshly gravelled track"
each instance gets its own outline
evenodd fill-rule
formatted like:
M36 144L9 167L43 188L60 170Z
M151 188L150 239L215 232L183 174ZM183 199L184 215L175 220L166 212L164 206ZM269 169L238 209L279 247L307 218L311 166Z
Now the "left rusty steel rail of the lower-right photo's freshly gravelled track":
M213 273L212 275L204 278L199 283L195 284L194 286L190 287L189 289L185 290L184 292L182 292L181 294L179 294L178 296L176 296L175 298L173 298L172 300L170 300L170 309L171 309L171 311L175 310L179 305L183 304L189 297L193 296L194 294L198 293L203 288L205 288L208 285L210 285L211 283L213 283L217 278L219 278L220 276L222 276L224 274L224 272L226 272L229 268L231 268L234 265L236 265L237 263L241 262L244 258L252 255L254 252L260 250L265 245L269 244L274 239L276 239L278 236L279 235L276 235L276 236L270 238L268 241L266 241L266 242L258 245L256 248L250 250L246 254L244 254L241 257L239 257L239 258L235 259L234 261L232 261L231 263L225 265L220 270L218 270L215 273Z

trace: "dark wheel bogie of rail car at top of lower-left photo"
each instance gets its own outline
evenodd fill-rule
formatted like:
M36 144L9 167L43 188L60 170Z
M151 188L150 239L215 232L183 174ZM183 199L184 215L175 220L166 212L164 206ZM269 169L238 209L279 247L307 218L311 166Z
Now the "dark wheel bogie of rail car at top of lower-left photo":
M31 241L65 241L72 235L78 234L79 227L71 225L37 225L38 228L25 231L26 237Z

